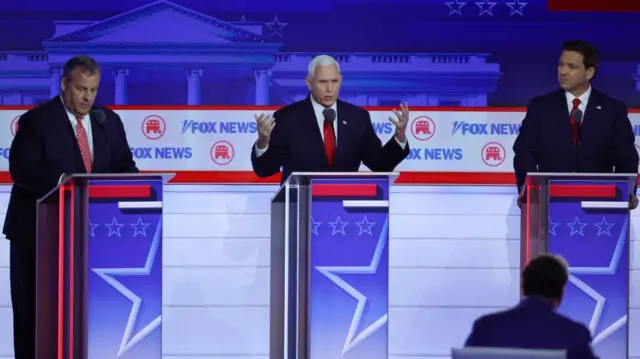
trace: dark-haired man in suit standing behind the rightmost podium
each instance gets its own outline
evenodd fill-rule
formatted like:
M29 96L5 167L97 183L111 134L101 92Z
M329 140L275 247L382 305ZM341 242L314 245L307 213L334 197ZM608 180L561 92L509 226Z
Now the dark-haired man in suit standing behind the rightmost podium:
M598 66L594 46L582 40L564 43L558 62L560 89L529 103L513 145L518 206L530 172L638 172L627 106L591 86ZM629 206L638 206L635 191Z

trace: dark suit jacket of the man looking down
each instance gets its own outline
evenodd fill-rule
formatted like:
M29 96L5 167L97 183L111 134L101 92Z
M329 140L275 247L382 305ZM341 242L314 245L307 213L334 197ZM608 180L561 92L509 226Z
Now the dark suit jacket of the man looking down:
M106 116L102 125L91 118L93 173L137 173L120 116L99 109ZM36 201L58 185L62 174L87 172L59 96L20 117L11 143L9 172L14 184L3 233L8 239L33 240Z

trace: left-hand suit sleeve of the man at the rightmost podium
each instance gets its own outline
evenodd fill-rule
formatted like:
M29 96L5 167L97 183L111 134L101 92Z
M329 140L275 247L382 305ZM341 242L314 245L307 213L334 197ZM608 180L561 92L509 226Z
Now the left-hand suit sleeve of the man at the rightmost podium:
M513 169L516 174L518 192L527 179L527 173L538 171L538 105L531 101L513 144Z

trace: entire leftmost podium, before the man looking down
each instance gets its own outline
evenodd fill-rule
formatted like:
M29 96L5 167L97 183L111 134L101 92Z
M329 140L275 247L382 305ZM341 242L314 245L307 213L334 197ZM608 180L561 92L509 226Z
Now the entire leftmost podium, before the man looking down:
M78 174L38 200L36 358L162 358L162 186Z

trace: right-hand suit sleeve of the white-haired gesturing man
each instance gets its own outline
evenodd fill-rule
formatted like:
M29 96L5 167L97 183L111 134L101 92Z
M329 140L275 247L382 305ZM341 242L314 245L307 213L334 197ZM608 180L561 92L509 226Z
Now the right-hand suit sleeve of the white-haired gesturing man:
M382 146L382 141L376 135L371 123L369 111L365 111L364 146L362 148L362 163L373 172L391 172L409 155L409 143L400 146L395 138L389 139Z

